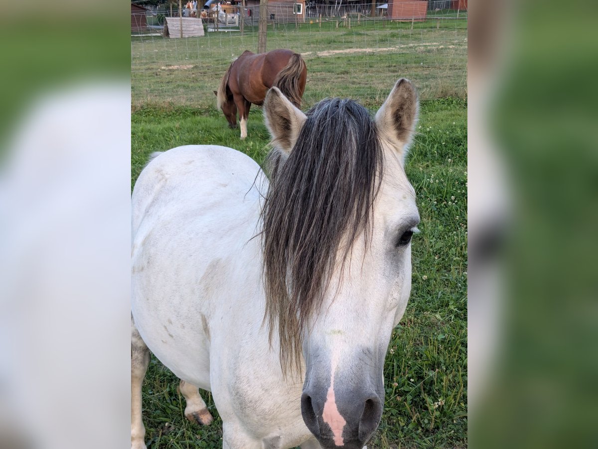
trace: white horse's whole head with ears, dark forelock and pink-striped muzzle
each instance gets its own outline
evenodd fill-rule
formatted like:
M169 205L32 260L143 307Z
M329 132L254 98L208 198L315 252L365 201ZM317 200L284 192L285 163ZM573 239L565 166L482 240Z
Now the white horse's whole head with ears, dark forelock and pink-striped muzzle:
M397 81L372 119L350 100L303 114L275 87L263 208L270 341L301 372L303 420L324 448L361 449L379 424L383 366L411 290L419 213L404 171L417 94Z

